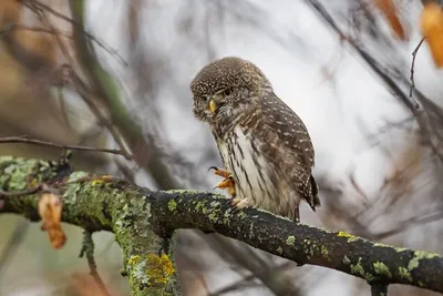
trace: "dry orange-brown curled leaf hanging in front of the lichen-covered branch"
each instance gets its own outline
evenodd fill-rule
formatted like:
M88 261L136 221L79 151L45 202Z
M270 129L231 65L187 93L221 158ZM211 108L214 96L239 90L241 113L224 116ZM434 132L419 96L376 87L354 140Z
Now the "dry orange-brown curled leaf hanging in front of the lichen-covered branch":
M66 236L60 225L62 218L62 203L53 193L43 193L39 201L39 215L43 221L42 231L47 231L53 248L61 248Z

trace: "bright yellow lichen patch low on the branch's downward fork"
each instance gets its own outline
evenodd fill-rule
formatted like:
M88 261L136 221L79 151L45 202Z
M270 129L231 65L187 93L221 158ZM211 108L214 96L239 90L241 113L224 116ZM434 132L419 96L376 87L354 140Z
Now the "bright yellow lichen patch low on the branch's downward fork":
M147 255L146 273L150 284L165 284L169 280L169 276L175 273L175 268L166 254L157 256L151 253Z

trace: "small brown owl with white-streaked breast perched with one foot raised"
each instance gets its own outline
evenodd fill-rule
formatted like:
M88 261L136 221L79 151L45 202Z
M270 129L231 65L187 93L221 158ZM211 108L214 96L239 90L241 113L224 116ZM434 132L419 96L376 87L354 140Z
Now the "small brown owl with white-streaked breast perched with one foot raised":
M300 221L299 203L320 206L311 172L315 153L299 116L251 62L224 58L203 68L193 82L195 116L209 124L236 208L256 206Z

